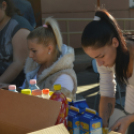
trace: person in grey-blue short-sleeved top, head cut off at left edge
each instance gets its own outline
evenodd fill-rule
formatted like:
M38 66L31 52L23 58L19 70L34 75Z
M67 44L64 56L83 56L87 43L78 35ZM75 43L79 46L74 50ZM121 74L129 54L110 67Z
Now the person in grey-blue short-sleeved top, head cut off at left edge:
M0 88L7 83L22 84L31 30L29 22L16 14L10 0L0 0Z

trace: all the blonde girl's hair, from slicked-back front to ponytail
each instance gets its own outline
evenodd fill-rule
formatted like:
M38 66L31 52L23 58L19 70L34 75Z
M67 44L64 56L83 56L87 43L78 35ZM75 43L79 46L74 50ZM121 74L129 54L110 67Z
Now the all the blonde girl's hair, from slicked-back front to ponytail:
M52 41L61 51L62 35L57 21L51 17L46 18L44 26L34 29L27 37L27 39L34 38L37 38L37 43L44 45Z

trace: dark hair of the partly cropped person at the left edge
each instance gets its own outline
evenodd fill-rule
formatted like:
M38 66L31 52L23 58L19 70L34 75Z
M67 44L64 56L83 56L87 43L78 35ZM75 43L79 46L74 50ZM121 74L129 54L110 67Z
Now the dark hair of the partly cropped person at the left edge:
M11 0L0 0L0 5L2 5L3 1L7 3L7 8L5 11L7 16L12 17L15 13L21 15L19 9L14 7L14 4Z

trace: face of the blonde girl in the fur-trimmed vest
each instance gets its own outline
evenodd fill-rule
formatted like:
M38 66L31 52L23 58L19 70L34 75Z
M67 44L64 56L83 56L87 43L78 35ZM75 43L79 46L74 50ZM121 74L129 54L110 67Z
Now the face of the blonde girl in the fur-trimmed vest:
M50 44L51 45L51 44ZM51 47L37 44L37 39L28 40L29 57L38 64L44 64L50 59Z

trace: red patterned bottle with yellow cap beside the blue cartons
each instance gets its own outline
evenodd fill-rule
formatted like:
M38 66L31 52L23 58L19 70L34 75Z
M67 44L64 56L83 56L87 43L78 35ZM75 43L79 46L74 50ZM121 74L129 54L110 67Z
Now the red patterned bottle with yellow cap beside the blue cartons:
M50 100L61 102L61 109L56 124L64 123L67 128L68 117L68 102L66 96L61 92L61 85L54 85L55 92L50 97Z

